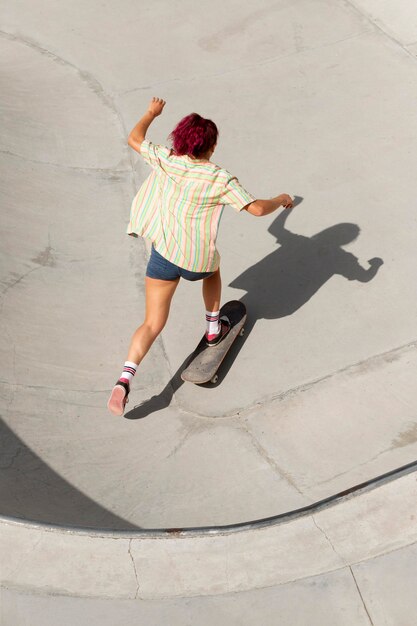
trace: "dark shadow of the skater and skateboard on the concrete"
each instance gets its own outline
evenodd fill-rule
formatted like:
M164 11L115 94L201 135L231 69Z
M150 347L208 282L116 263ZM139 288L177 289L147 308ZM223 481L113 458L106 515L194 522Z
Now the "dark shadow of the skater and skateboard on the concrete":
M302 200L297 197L294 208ZM376 276L383 265L382 259L374 257L369 259L369 267L365 268L354 254L343 249L359 236L357 224L334 224L311 237L289 231L286 222L294 208L284 209L268 228L279 247L229 284L246 291L241 302L247 308L248 318L244 337L233 343L221 365L219 382L227 375L258 320L292 315L334 275L366 283ZM169 406L173 395L183 384L181 372L193 356L187 357L160 394L135 407L125 417L140 419Z

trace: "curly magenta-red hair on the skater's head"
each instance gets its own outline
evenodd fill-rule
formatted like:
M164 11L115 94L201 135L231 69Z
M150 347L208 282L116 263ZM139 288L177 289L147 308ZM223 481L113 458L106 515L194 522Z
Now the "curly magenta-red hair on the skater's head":
M178 156L188 154L198 158L216 145L218 135L214 122L198 113L191 113L178 122L169 139Z

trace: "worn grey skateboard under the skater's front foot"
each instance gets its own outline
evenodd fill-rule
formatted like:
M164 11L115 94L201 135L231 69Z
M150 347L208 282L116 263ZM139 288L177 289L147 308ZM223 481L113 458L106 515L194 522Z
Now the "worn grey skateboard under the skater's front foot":
M191 362L181 373L182 380L195 385L201 385L209 381L213 384L217 383L219 379L217 370L223 359L229 352L236 337L244 334L246 307L239 300L231 300L226 302L220 309L220 317L222 315L227 315L230 320L231 327L229 332L216 346L207 346L205 337L202 338L192 354Z

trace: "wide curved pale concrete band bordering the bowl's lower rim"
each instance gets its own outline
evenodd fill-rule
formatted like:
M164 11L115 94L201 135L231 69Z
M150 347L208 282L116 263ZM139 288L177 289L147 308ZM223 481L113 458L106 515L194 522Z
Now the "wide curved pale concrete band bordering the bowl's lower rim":
M100 533L0 523L5 587L111 598L247 591L295 581L417 541L416 473L269 526L211 534Z

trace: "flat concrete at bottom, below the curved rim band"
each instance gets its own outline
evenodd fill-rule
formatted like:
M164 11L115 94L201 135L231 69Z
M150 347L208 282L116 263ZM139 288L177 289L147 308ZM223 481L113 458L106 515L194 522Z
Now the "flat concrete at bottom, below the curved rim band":
M404 576L406 574L406 577ZM411 626L417 547L247 592L166 600L98 600L3 589L3 626Z

